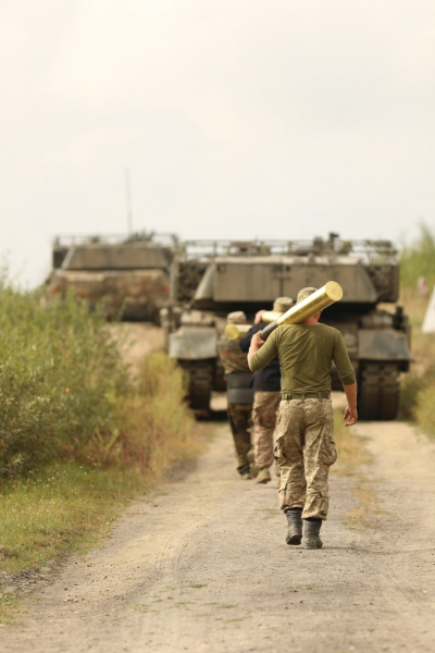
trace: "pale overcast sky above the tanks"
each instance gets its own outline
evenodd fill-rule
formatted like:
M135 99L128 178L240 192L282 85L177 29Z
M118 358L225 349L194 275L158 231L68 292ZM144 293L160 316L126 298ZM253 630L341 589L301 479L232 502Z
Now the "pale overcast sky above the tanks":
M435 225L433 0L0 0L0 254Z

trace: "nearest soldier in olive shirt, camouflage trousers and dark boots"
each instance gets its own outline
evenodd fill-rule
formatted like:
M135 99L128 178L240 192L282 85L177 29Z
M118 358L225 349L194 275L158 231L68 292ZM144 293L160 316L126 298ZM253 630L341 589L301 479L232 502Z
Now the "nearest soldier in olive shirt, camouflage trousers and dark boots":
M302 301L316 288L302 288ZM343 335L320 324L319 311L301 324L278 326L264 343L252 337L248 354L252 371L263 369L278 355L282 401L275 459L281 470L279 507L288 520L287 544L320 549L320 529L328 510L327 478L337 459L331 404L331 361L334 360L347 397L345 427L355 424L357 382Z

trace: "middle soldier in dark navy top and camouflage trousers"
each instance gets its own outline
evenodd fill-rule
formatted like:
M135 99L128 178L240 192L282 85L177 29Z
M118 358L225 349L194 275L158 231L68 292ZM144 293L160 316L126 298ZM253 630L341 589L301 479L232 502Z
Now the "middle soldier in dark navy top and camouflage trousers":
M278 297L274 301L273 310L283 313L293 305L294 300L290 297ZM246 354L249 352L253 334L264 328L261 321L263 312L265 311L260 310L257 313L253 326L240 340L240 349ZM260 470L256 483L268 483L271 480L269 469L274 461L274 431L281 402L281 369L277 356L264 369L256 372L253 390L253 452L256 467Z

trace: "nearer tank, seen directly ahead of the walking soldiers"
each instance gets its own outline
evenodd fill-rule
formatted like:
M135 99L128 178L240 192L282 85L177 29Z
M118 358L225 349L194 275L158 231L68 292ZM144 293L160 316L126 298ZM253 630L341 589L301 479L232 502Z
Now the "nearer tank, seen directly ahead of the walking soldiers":
M172 309L162 315L169 355L190 375L190 405L207 410L224 386L216 342L225 317L248 319L275 297L294 299L304 286L327 281L344 289L322 322L338 329L357 372L361 419L395 419L400 373L409 369L410 332L400 306L399 264L391 243L327 239L232 243L186 242L172 270ZM335 369L333 390L343 390Z

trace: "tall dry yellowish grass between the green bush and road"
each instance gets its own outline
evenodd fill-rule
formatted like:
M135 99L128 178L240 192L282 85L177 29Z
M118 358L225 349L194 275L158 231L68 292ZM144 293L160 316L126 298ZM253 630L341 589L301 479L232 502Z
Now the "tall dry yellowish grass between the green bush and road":
M150 354L142 361L138 383L117 398L116 419L98 427L85 446L72 447L74 459L159 478L173 463L199 451L185 395L186 380L175 361L163 352Z

